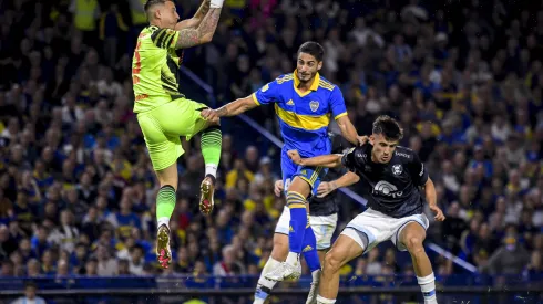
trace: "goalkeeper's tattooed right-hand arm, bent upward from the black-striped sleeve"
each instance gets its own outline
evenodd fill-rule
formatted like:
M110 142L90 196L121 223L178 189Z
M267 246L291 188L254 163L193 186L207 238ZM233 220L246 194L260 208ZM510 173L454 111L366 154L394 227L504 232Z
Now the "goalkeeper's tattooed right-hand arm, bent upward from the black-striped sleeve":
M222 8L212 8L196 29L180 30L176 49L187 49L195 45L204 44L213 39L217 29L218 19L221 18Z

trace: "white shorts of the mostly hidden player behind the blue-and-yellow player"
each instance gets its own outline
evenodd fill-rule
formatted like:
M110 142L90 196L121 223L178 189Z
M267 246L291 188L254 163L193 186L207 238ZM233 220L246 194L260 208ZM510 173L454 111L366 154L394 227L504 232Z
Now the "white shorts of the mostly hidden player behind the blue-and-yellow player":
M275 227L275 233L281 233L288 235L288 227L290 223L290 209L285 206L283 208L281 216ZM325 250L331 245L331 237L336 231L338 223L338 214L330 216L309 216L309 223L311 224L315 238L317 239L317 250Z

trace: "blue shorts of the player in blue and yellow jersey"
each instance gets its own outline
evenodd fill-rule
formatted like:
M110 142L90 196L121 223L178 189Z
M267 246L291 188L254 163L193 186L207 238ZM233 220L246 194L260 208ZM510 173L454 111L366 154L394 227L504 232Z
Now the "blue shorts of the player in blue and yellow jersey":
M285 193L288 190L288 187L293 182L295 177L300 177L309 187L311 187L311 195L317 195L317 188L319 188L320 181L328 172L328 168L324 167L306 167L298 166L290 160L287 155L287 151L281 151L281 172L283 172L283 185Z

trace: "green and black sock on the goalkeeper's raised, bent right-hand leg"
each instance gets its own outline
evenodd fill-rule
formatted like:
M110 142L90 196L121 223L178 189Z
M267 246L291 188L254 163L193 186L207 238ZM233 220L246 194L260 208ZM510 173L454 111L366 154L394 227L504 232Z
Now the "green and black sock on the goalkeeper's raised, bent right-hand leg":
M202 132L202 155L205 163L205 176L217 176L218 161L221 160L221 146L223 133L219 126L212 126Z

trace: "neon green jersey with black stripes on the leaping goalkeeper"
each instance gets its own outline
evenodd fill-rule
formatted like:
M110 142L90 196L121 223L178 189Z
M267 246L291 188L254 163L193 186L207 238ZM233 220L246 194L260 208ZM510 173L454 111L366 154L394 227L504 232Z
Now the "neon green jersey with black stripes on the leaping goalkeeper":
M140 33L132 59L134 113L147 112L184 97L177 82L183 60L183 51L175 49L178 38L178 31L154 25Z

